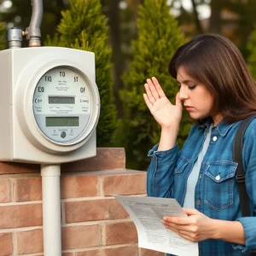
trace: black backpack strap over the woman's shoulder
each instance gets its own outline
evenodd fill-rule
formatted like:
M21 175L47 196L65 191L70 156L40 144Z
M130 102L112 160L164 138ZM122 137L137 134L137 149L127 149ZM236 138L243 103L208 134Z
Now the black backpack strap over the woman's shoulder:
M236 169L236 183L240 198L240 205L241 205L241 215L242 217L250 216L250 206L249 206L249 198L247 195L247 189L245 184L245 172L243 169L242 164L242 143L243 143L243 136L245 131L247 130L247 125L256 118L256 114L251 114L247 116L247 118L241 121L237 131L236 137L233 142L233 160L238 163Z

